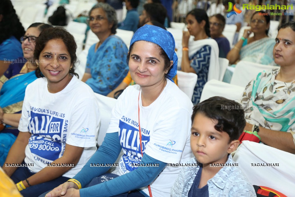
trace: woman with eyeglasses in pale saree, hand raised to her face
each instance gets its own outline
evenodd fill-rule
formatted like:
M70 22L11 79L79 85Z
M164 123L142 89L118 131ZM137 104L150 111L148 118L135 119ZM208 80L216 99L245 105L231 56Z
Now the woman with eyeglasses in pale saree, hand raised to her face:
M230 64L236 64L237 61L245 60L265 65L276 65L273 59L273 46L276 41L268 37L270 17L264 15L266 12L255 12L251 17L251 29L245 30L243 37L237 42L232 50L227 54ZM249 38L251 33L253 37ZM232 65L235 67L235 65ZM227 70L223 81L230 82L232 73Z

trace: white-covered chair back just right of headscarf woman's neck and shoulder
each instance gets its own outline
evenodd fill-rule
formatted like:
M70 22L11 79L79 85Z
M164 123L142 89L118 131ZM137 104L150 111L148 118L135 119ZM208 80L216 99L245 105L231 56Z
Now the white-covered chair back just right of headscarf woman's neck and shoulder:
M177 71L177 85L191 99L194 94L198 76L195 73Z

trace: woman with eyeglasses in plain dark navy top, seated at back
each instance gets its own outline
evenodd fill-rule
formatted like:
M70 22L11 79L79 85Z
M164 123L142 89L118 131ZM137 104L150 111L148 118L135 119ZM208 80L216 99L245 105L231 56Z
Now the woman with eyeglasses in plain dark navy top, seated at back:
M230 51L230 42L222 35L225 18L221 14L215 14L209 18L209 25L211 38L218 44L219 57L226 58L227 53Z

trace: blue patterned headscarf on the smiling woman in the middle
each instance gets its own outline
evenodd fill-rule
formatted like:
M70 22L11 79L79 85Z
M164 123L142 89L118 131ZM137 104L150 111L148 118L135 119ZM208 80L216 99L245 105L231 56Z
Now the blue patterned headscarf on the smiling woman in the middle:
M159 45L167 54L170 61L173 61L173 65L170 67L169 72L167 73L167 78L170 79L173 83L173 77L177 72L177 55L175 53L175 41L173 35L160 27L154 25L144 25L140 27L133 35L130 46L139 40L145 40ZM129 47L130 51L130 47Z

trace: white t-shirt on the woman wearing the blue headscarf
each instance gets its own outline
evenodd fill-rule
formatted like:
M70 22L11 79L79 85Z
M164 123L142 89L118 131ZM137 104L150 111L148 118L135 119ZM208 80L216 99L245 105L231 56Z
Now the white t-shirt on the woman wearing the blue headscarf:
M127 87L112 110L107 133L118 132L123 156L117 175L128 173L141 162L138 95L140 86ZM140 96L140 128L143 153L168 163L160 175L150 184L153 196L170 196L171 187L181 167L169 167L169 163L186 163L191 157L190 129L192 102L173 82L167 84L161 95L149 106L143 107ZM148 194L147 187L142 188Z

